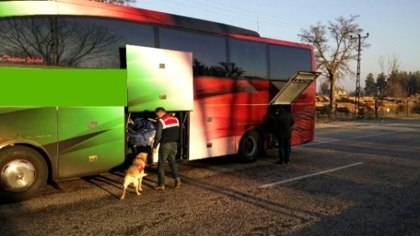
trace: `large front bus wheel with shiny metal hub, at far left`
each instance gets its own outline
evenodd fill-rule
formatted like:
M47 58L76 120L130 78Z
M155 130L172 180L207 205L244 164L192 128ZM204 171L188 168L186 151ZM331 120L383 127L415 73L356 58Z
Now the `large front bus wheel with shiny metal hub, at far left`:
M39 194L47 184L48 167L38 151L12 146L0 151L0 197L21 202Z

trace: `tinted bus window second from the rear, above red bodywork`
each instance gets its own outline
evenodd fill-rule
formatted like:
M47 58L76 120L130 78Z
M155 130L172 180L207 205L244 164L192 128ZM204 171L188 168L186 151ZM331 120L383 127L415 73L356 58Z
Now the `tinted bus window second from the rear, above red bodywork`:
M267 78L266 44L244 40L229 40L232 77Z

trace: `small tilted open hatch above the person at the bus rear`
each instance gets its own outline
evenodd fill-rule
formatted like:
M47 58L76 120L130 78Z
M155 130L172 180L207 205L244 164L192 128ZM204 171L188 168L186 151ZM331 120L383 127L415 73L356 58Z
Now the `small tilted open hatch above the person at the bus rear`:
M318 71L298 71L274 96L269 105L290 105L319 75L321 72Z

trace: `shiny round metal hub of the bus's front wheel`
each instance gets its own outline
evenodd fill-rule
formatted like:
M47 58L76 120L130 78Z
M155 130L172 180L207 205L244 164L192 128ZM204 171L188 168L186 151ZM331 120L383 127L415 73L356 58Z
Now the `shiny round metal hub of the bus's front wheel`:
M12 160L1 169L1 185L10 192L20 192L31 187L35 181L36 171L27 160Z

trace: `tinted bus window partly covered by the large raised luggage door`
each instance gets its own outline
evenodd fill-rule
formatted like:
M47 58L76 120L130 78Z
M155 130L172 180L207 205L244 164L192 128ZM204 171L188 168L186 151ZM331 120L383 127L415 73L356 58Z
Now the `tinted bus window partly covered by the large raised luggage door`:
M162 49L192 52L194 76L227 76L223 37L159 28L159 46Z

